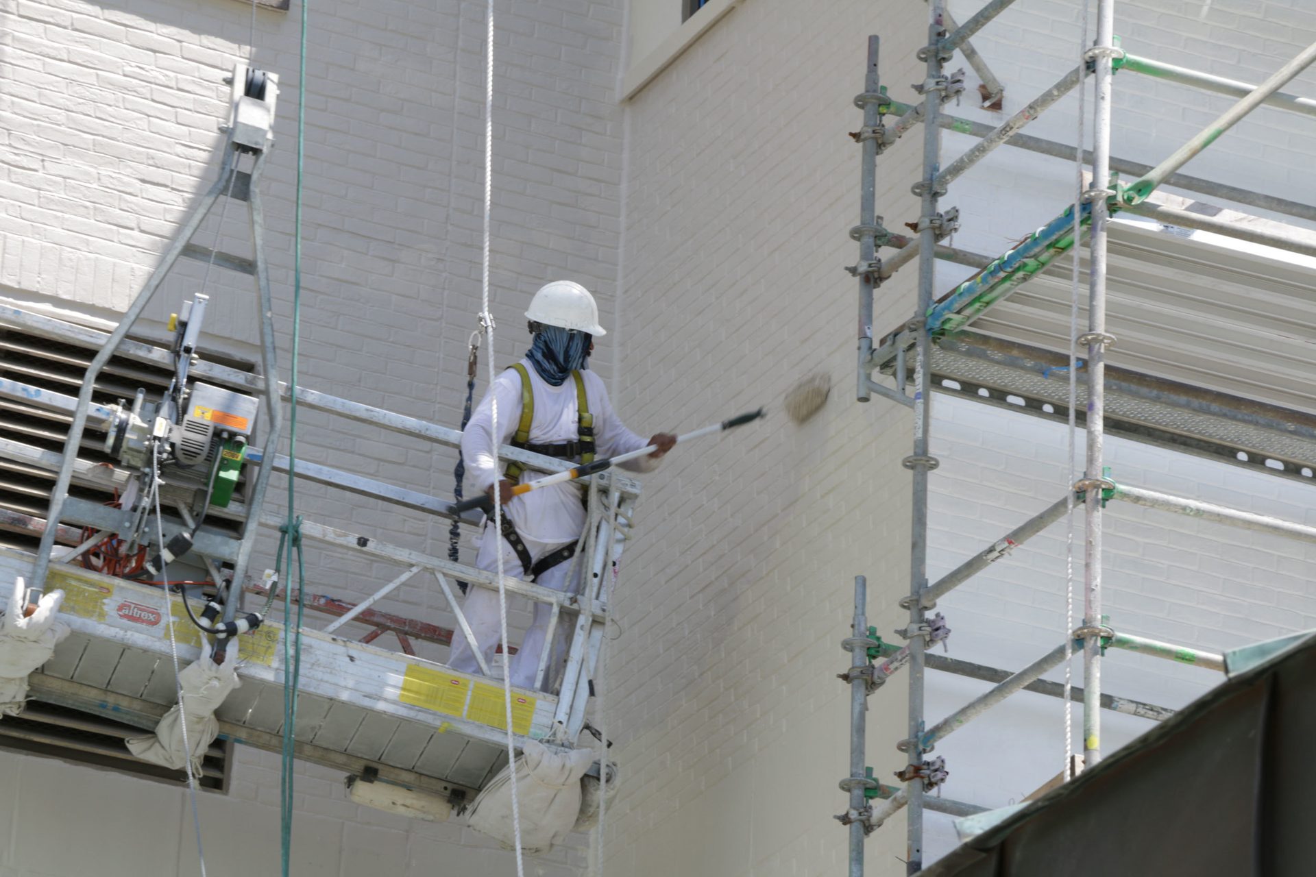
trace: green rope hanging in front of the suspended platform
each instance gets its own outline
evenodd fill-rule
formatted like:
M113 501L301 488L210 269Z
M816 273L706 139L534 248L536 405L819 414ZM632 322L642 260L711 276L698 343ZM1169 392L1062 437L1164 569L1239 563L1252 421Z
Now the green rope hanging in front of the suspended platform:
M307 145L307 7L309 0L301 0L301 53L297 68L297 188L296 208L292 220L292 358L288 387L288 522L279 527L283 534L279 542L279 559L275 571L282 567L283 551L287 548L288 582L283 588L283 781L282 793L282 864L283 877L288 877L292 857L292 781L293 756L297 724L297 684L301 678L301 611L305 601L307 568L301 559L301 518L296 514L296 473L297 473L297 352L301 341L301 176L305 164ZM297 554L297 618L291 632L288 618L292 615L292 554ZM291 652L291 653L290 653Z

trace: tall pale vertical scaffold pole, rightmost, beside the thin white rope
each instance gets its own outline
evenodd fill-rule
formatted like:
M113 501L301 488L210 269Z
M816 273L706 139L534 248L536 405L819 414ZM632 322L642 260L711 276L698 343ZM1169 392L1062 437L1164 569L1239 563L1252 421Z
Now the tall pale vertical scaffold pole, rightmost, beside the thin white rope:
M1092 231L1088 260L1088 325L1079 337L1087 344L1087 472L1084 505L1087 539L1083 552L1083 763L1101 759L1101 502L1105 347L1115 341L1105 331L1105 245L1111 212L1105 191L1111 178L1111 79L1115 49L1115 0L1098 0L1095 108L1092 125Z

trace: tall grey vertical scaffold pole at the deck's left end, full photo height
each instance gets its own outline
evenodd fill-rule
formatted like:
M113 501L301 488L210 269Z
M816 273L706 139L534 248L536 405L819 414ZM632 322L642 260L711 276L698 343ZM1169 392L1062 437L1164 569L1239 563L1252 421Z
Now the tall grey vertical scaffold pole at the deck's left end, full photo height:
M919 217L919 306L909 330L916 338L915 344L915 388L913 388L913 454L904 459L905 468L913 472L913 497L909 535L909 736L905 740L911 765L923 764L923 749L919 738L923 735L924 721L924 647L925 640L919 634L923 628L925 611L923 589L928 586L928 472L937 460L928 454L928 426L932 404L932 363L926 320L932 308L933 284L936 281L937 254L937 174L941 160L941 101L945 99L946 80L942 63L949 50L942 50L942 0L928 4L928 45L920 51L928 64L924 82L924 121L923 126L923 179L915 184L913 193L923 200ZM913 773L913 772L912 772ZM923 778L915 776L908 786L908 838L905 857L907 873L923 870Z

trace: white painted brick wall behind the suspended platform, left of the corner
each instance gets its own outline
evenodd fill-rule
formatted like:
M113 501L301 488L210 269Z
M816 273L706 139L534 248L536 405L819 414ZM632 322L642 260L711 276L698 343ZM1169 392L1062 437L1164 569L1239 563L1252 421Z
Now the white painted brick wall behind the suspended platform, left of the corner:
M234 60L247 57L250 14L247 5L229 0L0 1L0 295L103 318L126 308L215 179L216 125L228 121L229 87L221 80ZM284 375L299 20L300 8L255 12L255 64L282 79L278 142L262 189ZM521 314L550 279L588 285L604 323L613 323L621 174L613 83L621 20L620 0L546 0L499 11L492 310L500 363L524 351ZM315 4L308 43L300 381L457 426L466 341L476 327L480 297L484 7ZM218 217L217 206L199 243L212 245ZM228 210L222 231L221 249L250 254L241 204ZM149 312L154 322L142 329L163 337L161 321L201 288L204 275L204 266L180 263ZM247 279L215 270L205 291L213 302L205 343L255 360ZM601 339L595 363L604 375L612 356L609 339ZM303 459L436 494L453 489L455 456L443 448L305 410L299 437ZM282 505L283 496L274 484L271 505ZM371 538L440 555L446 550L441 522L330 488L307 485L299 511ZM257 573L271 565L272 548L272 539L259 546ZM320 548L308 548L308 567L309 589L347 600L399 572ZM442 597L421 577L380 609L447 621ZM430 657L443 655L438 647L418 647ZM58 805L87 773L3 757L5 776L30 778L24 807L30 798ZM105 789L97 795L103 802L142 798L167 817L163 826L136 818L114 823L116 849L153 848L164 838L171 852L162 855L176 857L184 872L195 869L191 827L178 815L179 793L93 776ZM278 774L267 757L246 753L236 776L229 799L208 795L201 802L212 873L213 863L225 870L222 863L251 844L245 866L268 873L278 868ZM308 770L300 780L301 873L354 874L367 861L416 874L512 868L511 855L461 827L387 819L347 805L336 786L340 778ZM47 782L49 795L34 792ZM174 873L172 865L138 870L126 855L99 866L88 860L43 869L30 849L11 843L24 834L13 834L17 823L9 817L18 799L11 797L17 794L12 784L0 785L0 797L9 797L0 806L7 814L0 820L5 877ZM230 835L241 844L225 843ZM87 844L87 855L92 847ZM562 877L582 863L574 843L533 859L528 873Z

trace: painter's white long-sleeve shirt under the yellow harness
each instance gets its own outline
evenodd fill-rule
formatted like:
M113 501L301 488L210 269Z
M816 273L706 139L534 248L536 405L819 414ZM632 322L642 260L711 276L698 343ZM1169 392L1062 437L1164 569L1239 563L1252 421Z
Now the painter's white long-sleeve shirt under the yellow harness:
M575 442L579 437L576 413L575 380L567 377L561 387L553 387L534 371L528 359L522 359L530 376L530 391L534 393L534 418L530 422L532 444L561 444ZM591 371L580 372L584 377L586 398L590 413L594 414L595 454L597 458L616 456L636 451L647 439L636 435L612 410L608 391L603 380ZM494 405L497 398L497 431L494 437ZM521 421L521 376L508 368L490 387L471 414L466 433L462 435L462 456L466 460L466 475L471 486L480 493L490 489L501 477L501 468L494 465L496 444L507 444L516 434ZM504 462L505 463L505 462ZM659 460L642 456L622 463L628 469L649 472ZM544 477L542 473L526 469L521 483ZM472 494L474 496L474 494ZM524 539L546 543L574 542L584 529L584 506L580 505L580 488L572 483L554 484L547 488L522 493L503 506L503 514L512 519L516 531Z

